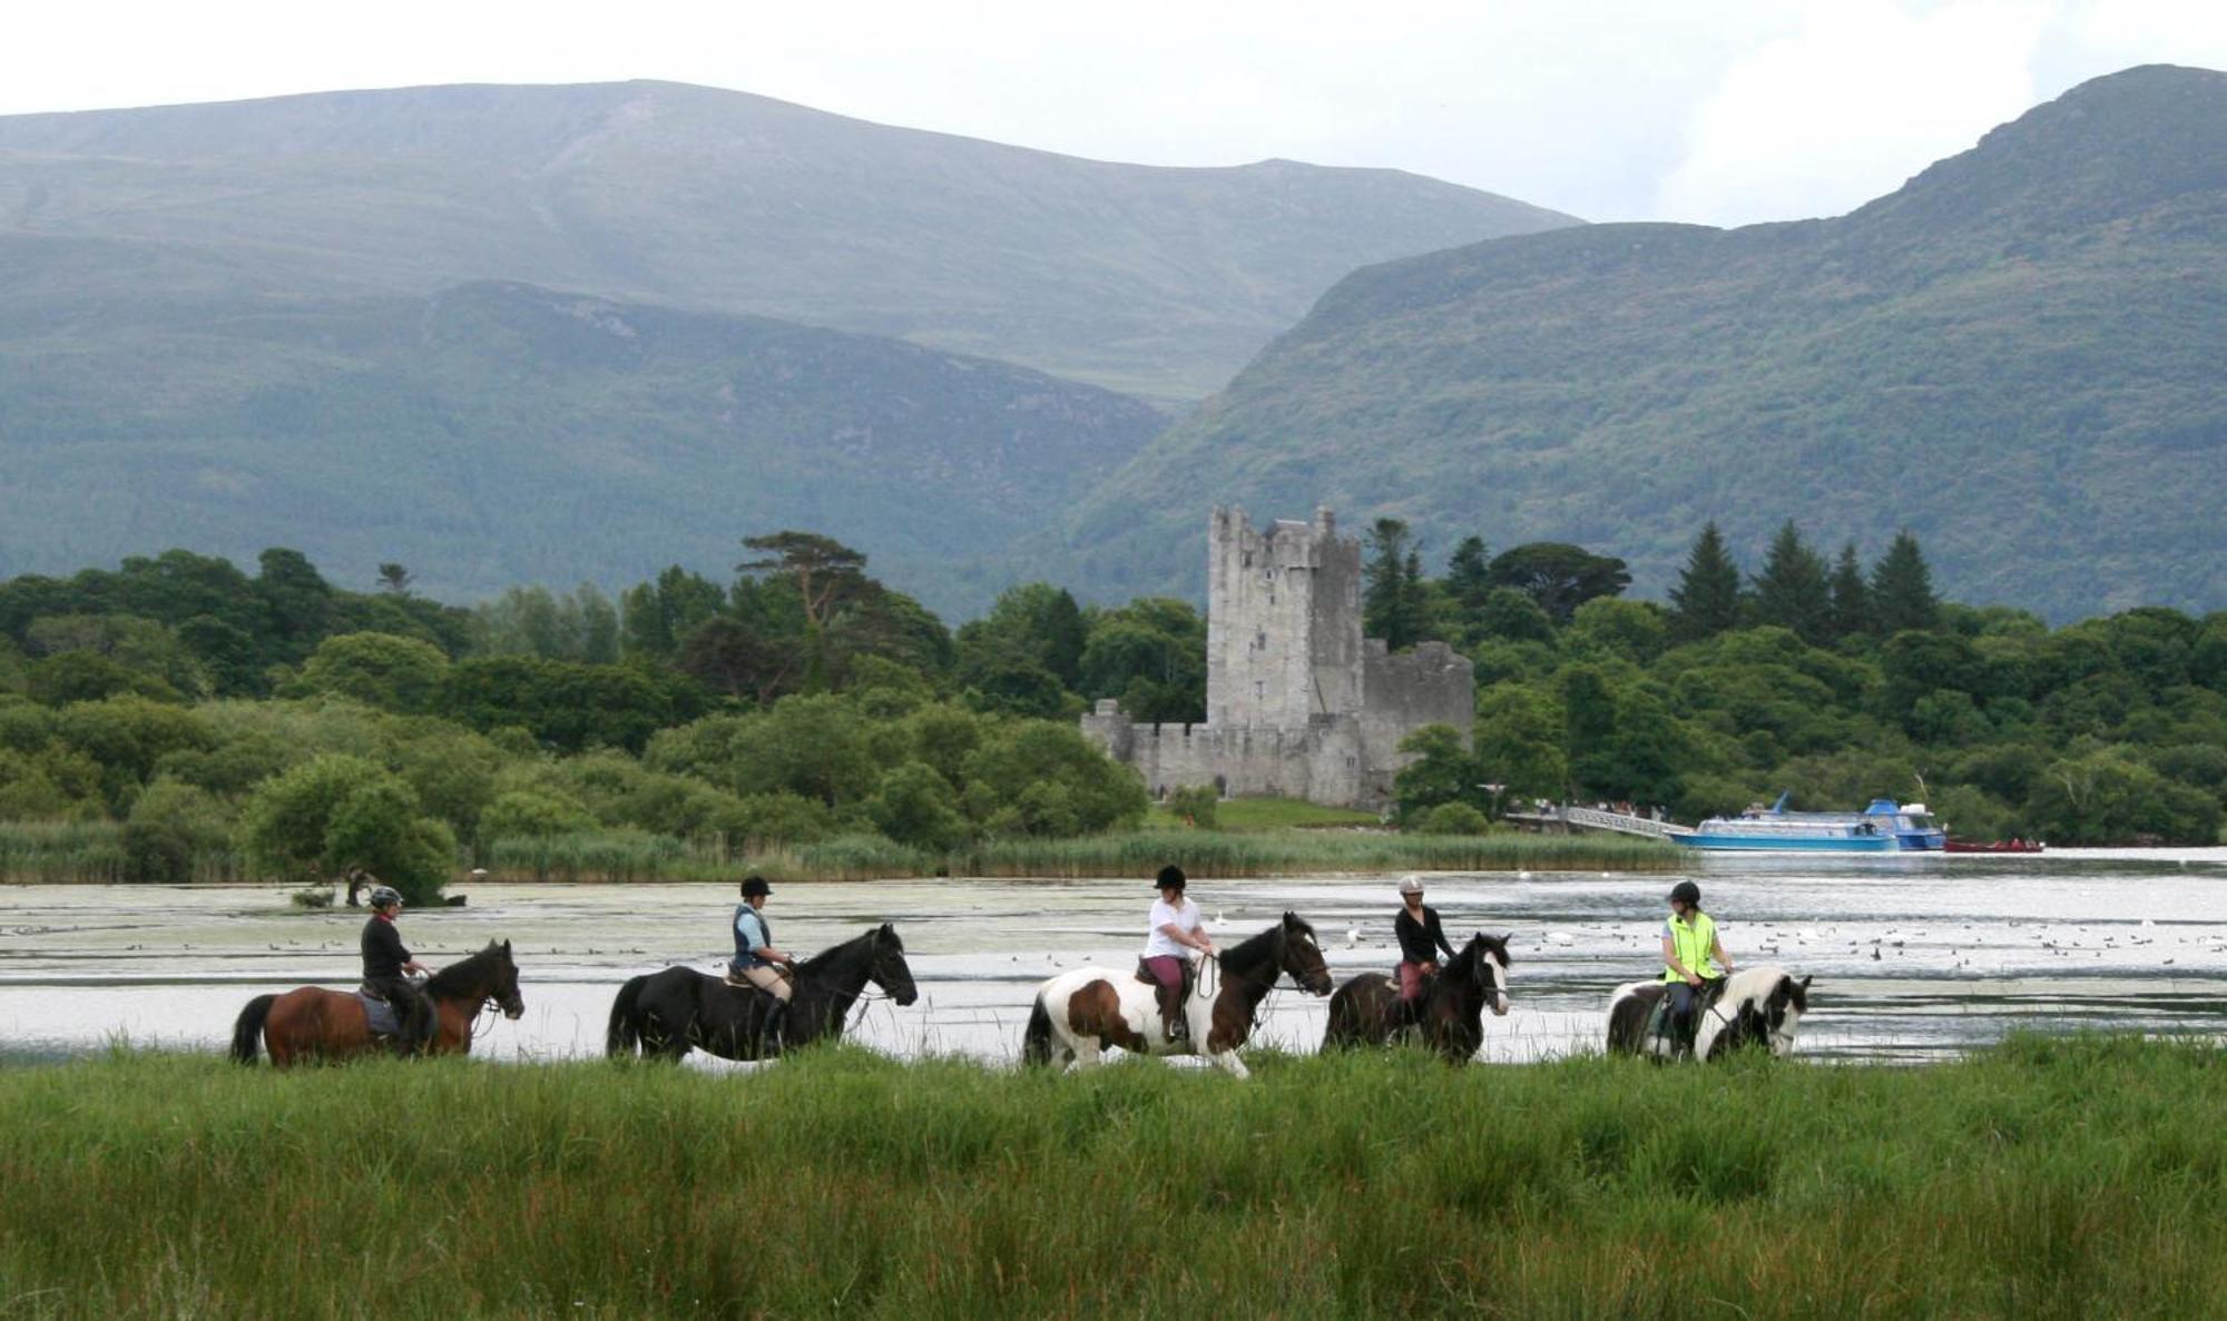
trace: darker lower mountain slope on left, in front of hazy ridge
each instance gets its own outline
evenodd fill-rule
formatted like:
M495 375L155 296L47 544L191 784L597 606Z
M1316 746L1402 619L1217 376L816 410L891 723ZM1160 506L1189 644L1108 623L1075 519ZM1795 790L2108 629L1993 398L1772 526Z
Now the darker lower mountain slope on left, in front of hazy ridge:
M768 318L472 282L312 300L192 249L0 238L0 576L267 545L365 587L722 574L822 529L933 600L1162 425L1009 362ZM143 274L131 318L80 285Z

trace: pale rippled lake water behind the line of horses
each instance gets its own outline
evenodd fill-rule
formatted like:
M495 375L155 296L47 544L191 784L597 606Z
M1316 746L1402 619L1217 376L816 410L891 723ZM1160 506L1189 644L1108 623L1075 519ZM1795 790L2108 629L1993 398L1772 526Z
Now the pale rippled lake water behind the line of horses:
M1695 863L1735 961L1817 979L1806 1056L1937 1059L2013 1027L2227 1034L2227 850ZM1477 927L1514 934L1514 1010L1485 1019L1483 1059L1597 1050L1608 992L1659 972L1677 878L1430 876L1456 945ZM1191 898L1223 943L1296 910L1343 981L1396 959L1394 885L1198 881ZM526 1016L474 1045L510 1059L597 1054L619 983L670 963L713 970L735 903L726 885L459 890L468 907L408 912L403 934L434 965L512 941ZM897 925L922 994L866 1005L869 1045L1011 1061L1036 983L1078 963L1131 967L1149 903L1147 878L784 883L768 916L797 952ZM0 1056L118 1039L220 1050L254 994L354 985L363 916L292 907L278 887L0 887ZM1285 983L1260 1039L1314 1050L1323 1010Z

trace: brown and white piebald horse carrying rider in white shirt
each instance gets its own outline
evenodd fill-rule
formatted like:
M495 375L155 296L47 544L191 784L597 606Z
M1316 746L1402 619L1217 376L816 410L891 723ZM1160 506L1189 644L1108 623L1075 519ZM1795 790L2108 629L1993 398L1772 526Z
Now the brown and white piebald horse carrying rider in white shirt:
M1038 987L1020 1059L1073 1070L1098 1063L1109 1045L1118 1045L1134 1054L1205 1054L1243 1079L1247 1070L1238 1047L1252 1036L1254 1014L1283 974L1309 994L1330 994L1330 967L1314 927L1292 912L1200 967L1198 990L1183 1003L1189 1036L1169 1041L1151 985L1134 972L1076 967ZM1220 985L1209 996L1207 987L1216 981Z

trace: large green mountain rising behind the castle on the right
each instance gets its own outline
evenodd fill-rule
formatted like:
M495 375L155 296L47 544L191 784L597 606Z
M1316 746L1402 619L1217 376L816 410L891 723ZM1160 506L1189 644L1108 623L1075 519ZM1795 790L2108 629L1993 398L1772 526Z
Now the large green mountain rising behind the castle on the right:
M1913 529L1958 598L2227 605L2227 76L2145 67L1848 216L1588 225L1341 280L1033 563L1196 589L1209 503L1577 540ZM1060 556L1067 558L1060 558Z

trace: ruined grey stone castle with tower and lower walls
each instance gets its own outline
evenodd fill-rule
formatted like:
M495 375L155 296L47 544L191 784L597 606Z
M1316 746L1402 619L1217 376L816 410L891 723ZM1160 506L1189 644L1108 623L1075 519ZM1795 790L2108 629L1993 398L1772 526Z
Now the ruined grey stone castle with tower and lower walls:
M1445 643L1394 656L1361 636L1361 543L1330 509L1256 532L1243 509L1207 529L1207 723L1136 725L1118 701L1082 732L1145 776L1156 798L1214 785L1223 796L1307 798L1383 810L1412 761L1410 732L1477 718L1470 660Z

